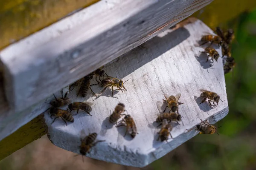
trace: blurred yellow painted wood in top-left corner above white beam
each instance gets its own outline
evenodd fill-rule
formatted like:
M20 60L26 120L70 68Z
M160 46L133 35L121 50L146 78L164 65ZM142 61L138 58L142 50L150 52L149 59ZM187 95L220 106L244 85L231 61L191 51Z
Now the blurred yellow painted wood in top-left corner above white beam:
M99 0L0 0L0 49Z

